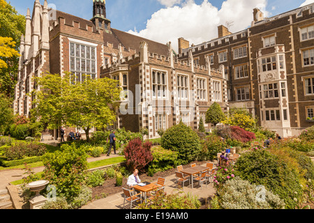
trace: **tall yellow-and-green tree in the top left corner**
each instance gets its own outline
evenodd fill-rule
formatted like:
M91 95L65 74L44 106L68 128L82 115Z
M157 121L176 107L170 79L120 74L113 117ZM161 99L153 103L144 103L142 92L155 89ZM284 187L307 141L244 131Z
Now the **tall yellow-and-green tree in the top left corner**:
M20 54L20 38L25 33L25 17L10 3L0 1L0 92L14 93Z

